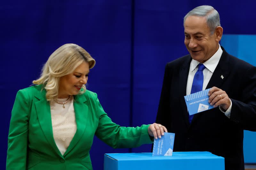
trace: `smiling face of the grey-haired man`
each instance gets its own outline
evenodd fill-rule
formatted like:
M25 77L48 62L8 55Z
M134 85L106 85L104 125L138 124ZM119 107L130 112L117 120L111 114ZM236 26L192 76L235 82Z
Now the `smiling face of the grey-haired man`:
M219 48L216 34L211 35L205 17L188 16L184 23L184 33L188 52L200 63L211 58Z

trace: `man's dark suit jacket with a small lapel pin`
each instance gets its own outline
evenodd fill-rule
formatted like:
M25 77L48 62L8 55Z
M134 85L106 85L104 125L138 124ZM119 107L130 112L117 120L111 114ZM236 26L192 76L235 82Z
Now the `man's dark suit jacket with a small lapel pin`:
M192 58L185 55L166 65L156 122L175 133L174 152L209 151L225 158L226 170L244 170L244 129L256 131L256 67L222 49L206 89L226 91L230 119L216 107L194 115L189 125L184 96Z

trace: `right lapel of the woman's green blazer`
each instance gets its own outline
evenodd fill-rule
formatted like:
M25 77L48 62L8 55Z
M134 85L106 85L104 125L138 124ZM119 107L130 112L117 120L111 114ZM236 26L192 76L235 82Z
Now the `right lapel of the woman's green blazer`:
M70 142L67 151L64 153L64 157L74 148L77 142L84 134L87 116L88 116L88 106L86 105L87 99L84 95L74 96L74 110L76 115L76 134Z

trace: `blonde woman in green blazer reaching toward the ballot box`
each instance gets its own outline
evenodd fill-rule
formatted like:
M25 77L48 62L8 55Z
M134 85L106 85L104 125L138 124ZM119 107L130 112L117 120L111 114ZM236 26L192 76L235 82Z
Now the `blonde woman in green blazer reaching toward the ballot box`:
M120 127L86 90L95 60L76 44L52 53L34 86L18 91L8 136L7 170L92 169L94 134L113 148L132 148L161 137L160 124Z

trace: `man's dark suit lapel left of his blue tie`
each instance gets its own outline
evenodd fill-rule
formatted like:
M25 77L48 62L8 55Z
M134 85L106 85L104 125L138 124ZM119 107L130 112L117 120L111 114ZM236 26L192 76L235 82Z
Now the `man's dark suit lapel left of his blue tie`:
M188 82L188 71L189 71L191 60L192 60L191 56L188 55L188 57L185 59L184 64L180 68L180 78L179 78L180 79L180 84L179 84L180 95L179 96L180 96L180 106L182 109L181 113L183 114L183 118L184 118L187 128L189 127L188 110L187 110L187 105L186 105L184 96L186 96L186 89L187 89L187 82Z

